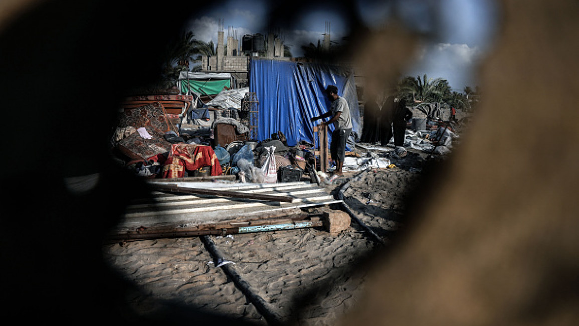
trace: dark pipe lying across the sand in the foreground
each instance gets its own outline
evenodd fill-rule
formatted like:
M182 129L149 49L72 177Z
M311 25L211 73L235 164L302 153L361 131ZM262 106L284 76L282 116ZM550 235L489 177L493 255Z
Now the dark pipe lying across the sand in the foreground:
M211 240L210 236L201 236L201 241L209 251L209 254L214 259L214 261L218 261L219 259L223 259L223 254L213 240ZM217 265L216 265L217 266ZM255 309L265 318L267 324L272 326L279 326L283 325L283 321L281 317L274 312L272 307L267 303L263 298L256 294L256 291L251 287L247 281L240 276L239 273L233 268L231 265L222 265L221 269L227 276L233 280L233 283L236 285L237 288L245 295L245 297L255 306Z

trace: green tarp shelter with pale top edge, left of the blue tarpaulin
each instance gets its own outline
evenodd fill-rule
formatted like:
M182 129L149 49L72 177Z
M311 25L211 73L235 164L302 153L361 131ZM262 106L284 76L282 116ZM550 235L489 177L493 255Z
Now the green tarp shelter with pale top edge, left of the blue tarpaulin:
M219 94L224 87L231 87L229 72L190 72L181 71L178 87L182 94L201 95Z

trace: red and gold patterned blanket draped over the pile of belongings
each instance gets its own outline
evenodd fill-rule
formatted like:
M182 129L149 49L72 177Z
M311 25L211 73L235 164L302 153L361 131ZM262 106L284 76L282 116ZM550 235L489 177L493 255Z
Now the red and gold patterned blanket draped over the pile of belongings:
M193 171L210 166L211 175L221 175L221 165L210 146L173 144L163 165L163 178L185 177L185 170Z

